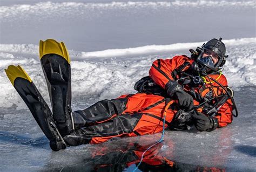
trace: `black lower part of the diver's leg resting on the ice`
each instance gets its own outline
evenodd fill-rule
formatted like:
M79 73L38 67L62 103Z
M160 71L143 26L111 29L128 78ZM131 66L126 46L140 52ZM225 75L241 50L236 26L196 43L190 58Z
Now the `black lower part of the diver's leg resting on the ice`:
M143 114L123 114L115 116L106 122L97 125L73 130L63 137L70 146L78 146L87 143L101 143L112 137L137 136L133 128L137 126Z

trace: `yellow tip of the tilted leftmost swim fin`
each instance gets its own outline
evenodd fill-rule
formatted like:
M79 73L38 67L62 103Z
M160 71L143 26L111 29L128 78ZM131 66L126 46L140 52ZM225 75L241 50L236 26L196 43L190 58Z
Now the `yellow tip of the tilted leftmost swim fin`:
M16 78L24 78L30 82L32 82L31 78L29 77L28 73L24 71L21 66L14 66L10 65L7 69L5 69L7 77L10 79L11 84L14 86L14 81Z

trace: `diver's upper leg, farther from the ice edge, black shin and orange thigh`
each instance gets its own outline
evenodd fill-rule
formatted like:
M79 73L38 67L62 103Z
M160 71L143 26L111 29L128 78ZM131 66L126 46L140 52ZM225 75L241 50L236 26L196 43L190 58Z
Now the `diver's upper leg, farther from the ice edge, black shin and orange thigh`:
M134 114L151 109L165 99L153 94L128 94L117 99L102 100L84 110L72 112L75 129L106 122L121 114ZM161 109L159 110L160 113Z

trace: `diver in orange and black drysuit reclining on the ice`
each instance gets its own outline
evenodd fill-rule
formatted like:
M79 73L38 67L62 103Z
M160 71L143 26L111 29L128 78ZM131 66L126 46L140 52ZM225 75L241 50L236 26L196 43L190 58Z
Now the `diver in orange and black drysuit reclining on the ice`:
M9 66L6 74L50 140L52 150L101 143L112 137L154 134L163 130L164 123L169 129L195 126L201 132L211 132L237 116L233 91L222 73L228 56L221 40L211 39L196 51L191 49L191 57L157 59L149 76L136 82L136 94L98 101L74 112L70 58L64 43L48 39L39 44L52 112L21 66Z

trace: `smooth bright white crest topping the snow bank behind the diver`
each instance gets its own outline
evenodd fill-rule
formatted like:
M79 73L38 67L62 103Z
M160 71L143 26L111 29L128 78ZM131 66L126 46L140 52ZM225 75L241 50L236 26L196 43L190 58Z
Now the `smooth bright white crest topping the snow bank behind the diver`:
M196 49L197 46L203 45L204 42L197 43L176 43L170 45L146 45L140 47L130 47L127 49L108 49L103 51L74 51L69 50L70 57L76 60L85 60L87 58L109 58L109 57L122 57L122 56L138 56L143 54L155 54L161 52L171 52L177 50L188 50ZM241 38L241 39L228 39L223 40L225 45L228 46L238 46L245 44L256 43L256 38ZM38 55L38 45L34 44L0 44L0 52L9 53L22 53L30 54L33 56Z

